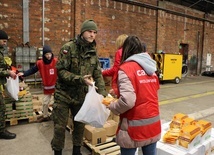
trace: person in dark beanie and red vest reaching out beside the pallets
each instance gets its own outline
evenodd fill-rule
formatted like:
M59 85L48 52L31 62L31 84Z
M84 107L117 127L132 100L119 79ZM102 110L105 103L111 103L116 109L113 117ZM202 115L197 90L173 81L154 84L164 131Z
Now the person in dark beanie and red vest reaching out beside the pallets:
M32 68L25 71L24 73L18 73L19 76L27 77L40 72L42 83L43 83L43 116L39 117L37 122L44 122L50 120L48 115L48 105L50 103L52 94L55 91L55 83L57 79L57 70L56 70L57 58L54 58L52 49L48 45L44 45L42 59L38 60Z

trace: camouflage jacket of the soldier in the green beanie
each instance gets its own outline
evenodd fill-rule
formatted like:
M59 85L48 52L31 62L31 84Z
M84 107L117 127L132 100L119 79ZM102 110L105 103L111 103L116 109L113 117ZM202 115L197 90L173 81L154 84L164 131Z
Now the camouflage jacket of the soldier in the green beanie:
M98 87L98 93L107 95L95 42L88 44L78 37L64 44L60 50L56 68L58 71L56 94L66 98L69 95L72 100L83 102L88 91L83 76L90 74Z

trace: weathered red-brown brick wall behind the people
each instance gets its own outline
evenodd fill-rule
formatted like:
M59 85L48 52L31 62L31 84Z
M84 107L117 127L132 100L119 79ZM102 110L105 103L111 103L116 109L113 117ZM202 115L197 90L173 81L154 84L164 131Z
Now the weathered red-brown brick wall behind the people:
M115 40L123 33L138 35L151 53L159 50L178 53L180 43L188 44L189 59L198 55L199 71L205 69L206 54L214 55L213 15L206 15L208 20L204 22L201 20L204 18L203 12L169 2L158 4L156 0L138 0L135 2L139 3L131 4L113 0L44 1L43 29L42 0L29 0L29 43L30 46L41 47L44 40L53 48L55 55L65 42L79 34L81 23L89 18L94 19L99 28L96 41L101 57L114 56ZM163 9L157 9L157 5ZM23 0L1 0L0 21L0 29L9 34L9 52L13 53L15 47L25 44ZM194 73L196 70L191 72Z

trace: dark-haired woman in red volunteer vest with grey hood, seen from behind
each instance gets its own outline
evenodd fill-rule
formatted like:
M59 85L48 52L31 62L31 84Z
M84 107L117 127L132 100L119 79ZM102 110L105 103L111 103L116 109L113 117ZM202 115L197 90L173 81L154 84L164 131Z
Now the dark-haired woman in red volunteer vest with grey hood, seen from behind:
M144 50L138 37L125 40L118 71L119 99L108 106L120 115L116 142L121 155L134 155L138 147L143 155L156 155L161 136L156 62Z

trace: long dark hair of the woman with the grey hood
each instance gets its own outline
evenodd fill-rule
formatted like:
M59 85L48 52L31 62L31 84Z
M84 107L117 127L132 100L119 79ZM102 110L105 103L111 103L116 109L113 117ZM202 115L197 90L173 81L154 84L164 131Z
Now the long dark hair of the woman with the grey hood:
M137 36L128 36L123 44L123 51L121 57L121 64L130 56L142 53L144 51L144 46L141 40Z

